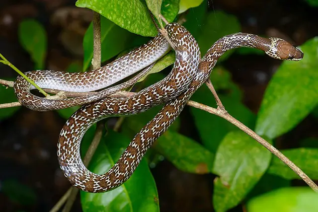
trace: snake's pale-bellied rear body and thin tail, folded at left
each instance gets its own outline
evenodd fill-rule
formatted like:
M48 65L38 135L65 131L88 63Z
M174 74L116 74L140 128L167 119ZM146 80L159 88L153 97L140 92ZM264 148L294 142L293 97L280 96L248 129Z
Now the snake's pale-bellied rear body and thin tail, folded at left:
M158 36L147 44L142 45L106 66L93 71L70 73L38 70L25 73L28 78L33 80L43 89L48 88L63 91L88 92L105 88L144 69L139 75L130 80L129 83L126 82L125 85L105 89L96 92L93 95L69 99L48 99L38 97L30 93L30 90L34 89L34 86L27 82L22 76L18 76L14 82L14 92L23 106L37 111L56 110L87 104L129 87L129 85L138 81L138 79L145 75L147 71L150 71L150 66L167 53L169 49L170 46L168 42L159 33Z

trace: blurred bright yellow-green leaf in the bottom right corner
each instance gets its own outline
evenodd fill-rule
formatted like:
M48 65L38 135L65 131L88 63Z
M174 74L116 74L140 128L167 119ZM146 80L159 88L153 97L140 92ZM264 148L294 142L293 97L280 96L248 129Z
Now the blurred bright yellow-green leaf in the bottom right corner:
M309 188L283 188L247 203L248 212L317 212L318 194Z

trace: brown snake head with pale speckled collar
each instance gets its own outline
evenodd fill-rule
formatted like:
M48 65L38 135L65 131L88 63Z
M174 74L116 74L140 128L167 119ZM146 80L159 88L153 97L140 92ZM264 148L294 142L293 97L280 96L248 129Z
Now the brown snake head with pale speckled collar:
M304 53L289 42L280 38L269 39L271 40L271 48L266 54L270 57L288 61L300 61L303 59Z

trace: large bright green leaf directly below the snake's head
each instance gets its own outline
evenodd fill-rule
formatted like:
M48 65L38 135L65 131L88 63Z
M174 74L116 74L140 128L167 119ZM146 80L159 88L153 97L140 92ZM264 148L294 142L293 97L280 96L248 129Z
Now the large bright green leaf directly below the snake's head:
M271 79L256 121L256 133L276 138L300 123L318 104L318 37L301 46L304 59L284 61Z

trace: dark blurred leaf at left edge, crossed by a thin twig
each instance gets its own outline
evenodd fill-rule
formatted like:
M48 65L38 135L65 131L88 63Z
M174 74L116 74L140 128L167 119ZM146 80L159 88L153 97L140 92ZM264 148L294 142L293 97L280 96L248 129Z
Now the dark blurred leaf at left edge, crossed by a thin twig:
M0 104L16 102L16 97L12 88L0 85ZM20 107L9 107L0 109L0 120L10 117Z

